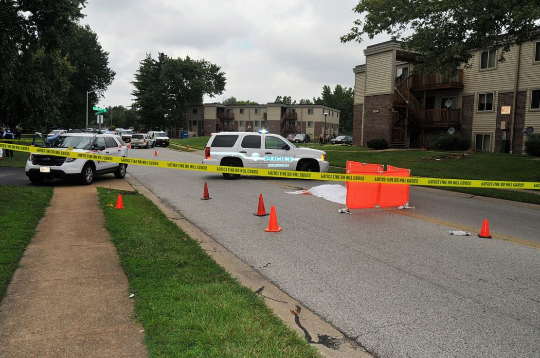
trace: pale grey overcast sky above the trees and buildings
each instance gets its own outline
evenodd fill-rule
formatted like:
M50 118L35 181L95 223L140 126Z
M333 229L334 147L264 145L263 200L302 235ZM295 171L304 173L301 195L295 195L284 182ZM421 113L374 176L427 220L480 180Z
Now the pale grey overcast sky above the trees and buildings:
M353 25L355 0L89 0L89 24L109 52L116 77L100 105L131 105L133 74L146 53L206 59L221 66L225 92L273 102L320 95L323 85L354 87L353 67L365 63L363 49L387 40L340 43Z

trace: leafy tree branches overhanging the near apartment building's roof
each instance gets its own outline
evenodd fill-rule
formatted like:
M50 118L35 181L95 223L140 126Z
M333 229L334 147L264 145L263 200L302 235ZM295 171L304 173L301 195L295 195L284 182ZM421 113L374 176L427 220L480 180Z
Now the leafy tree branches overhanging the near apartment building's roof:
M499 51L499 61L512 44L538 37L538 0L361 0L353 9L365 13L341 42L362 42L387 33L404 49L419 52L415 71L455 71L467 66L476 50ZM412 29L413 35L403 32Z

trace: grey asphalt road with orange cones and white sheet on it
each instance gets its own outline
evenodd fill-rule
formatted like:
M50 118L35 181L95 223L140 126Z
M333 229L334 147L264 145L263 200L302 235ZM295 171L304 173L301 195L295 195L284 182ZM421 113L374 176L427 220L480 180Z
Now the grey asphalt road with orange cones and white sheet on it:
M201 153L130 149L200 163ZM286 191L332 182L129 166L141 185L370 353L540 357L540 207L411 187L414 210L363 209ZM414 173L413 173L414 175ZM203 183L212 200L203 201ZM343 184L343 183L340 183ZM253 216L259 194L279 233ZM453 236L480 231L494 239ZM294 308L294 307L293 307Z

